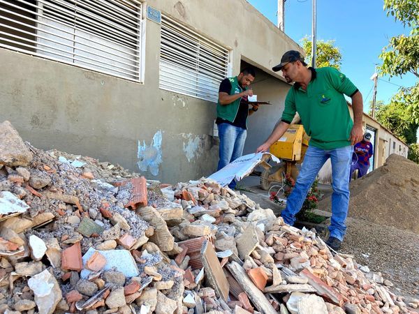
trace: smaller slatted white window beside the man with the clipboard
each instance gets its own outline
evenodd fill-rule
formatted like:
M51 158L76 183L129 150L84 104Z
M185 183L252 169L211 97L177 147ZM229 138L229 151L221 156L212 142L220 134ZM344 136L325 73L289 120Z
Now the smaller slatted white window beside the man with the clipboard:
M161 18L160 88L216 102L229 52L170 17Z

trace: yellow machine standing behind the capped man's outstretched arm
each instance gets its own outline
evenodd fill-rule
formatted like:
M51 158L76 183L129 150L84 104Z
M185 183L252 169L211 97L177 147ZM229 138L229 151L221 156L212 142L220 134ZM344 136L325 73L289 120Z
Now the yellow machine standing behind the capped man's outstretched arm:
M309 140L301 124L291 124L284 136L272 144L270 153L281 159L281 163L274 167L268 163L260 164L265 169L260 174L260 187L263 190L268 190L273 182L283 182L286 175L297 179L296 164L302 163Z

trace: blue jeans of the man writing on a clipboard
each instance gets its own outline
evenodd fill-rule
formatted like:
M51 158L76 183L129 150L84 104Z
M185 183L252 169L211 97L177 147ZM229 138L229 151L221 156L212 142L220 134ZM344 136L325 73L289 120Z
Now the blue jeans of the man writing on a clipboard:
M239 128L238 126L232 126L231 124L219 124L218 129L220 138L220 160L217 171L242 156L247 135L247 130ZM228 186L230 188L235 188L235 180Z

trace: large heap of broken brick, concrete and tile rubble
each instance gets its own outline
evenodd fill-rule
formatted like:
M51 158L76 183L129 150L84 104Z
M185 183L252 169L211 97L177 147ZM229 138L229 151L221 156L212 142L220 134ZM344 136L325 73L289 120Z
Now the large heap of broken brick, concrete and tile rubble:
M379 274L201 179L175 186L0 124L1 313L413 313ZM391 283L386 283L391 285Z

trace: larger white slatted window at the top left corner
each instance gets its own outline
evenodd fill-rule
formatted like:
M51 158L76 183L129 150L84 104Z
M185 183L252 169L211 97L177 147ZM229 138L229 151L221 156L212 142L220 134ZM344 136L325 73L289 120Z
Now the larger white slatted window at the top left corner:
M138 0L0 0L0 47L141 80Z

